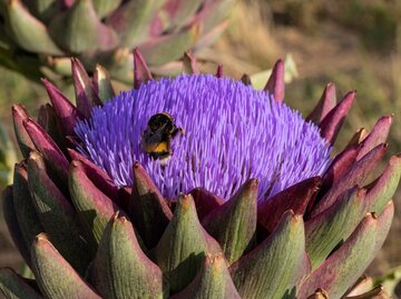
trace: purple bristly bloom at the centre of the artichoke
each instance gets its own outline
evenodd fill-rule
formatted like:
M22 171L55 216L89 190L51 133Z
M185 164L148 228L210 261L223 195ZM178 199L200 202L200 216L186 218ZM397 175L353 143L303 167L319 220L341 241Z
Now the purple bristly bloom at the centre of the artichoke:
M141 149L149 118L167 112L185 130L166 166ZM166 198L203 187L228 199L250 178L260 199L324 172L331 147L319 128L265 91L211 74L179 76L121 92L76 127L79 150L119 187L139 161Z

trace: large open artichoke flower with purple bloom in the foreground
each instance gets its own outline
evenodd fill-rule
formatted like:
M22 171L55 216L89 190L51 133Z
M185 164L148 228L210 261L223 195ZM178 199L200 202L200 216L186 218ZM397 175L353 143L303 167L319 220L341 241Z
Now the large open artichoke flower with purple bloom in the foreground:
M305 120L282 60L260 91L198 73L190 53L154 80L135 50L118 96L106 69L71 61L76 106L43 80L37 121L12 108L25 159L3 211L35 280L2 268L7 298L385 298L362 275L394 212L401 156L370 181L391 117L332 157L355 91L336 103L327 84ZM183 129L164 162L144 147L158 113Z

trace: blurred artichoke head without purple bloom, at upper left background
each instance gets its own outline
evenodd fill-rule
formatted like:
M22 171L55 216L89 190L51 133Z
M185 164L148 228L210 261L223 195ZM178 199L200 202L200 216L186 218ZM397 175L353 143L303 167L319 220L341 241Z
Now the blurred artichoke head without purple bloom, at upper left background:
M128 60L139 48L154 72L176 72L186 49L198 51L224 31L233 2L2 0L0 63L39 79L46 69L70 76L75 56L87 69L101 63L114 78L131 81Z

